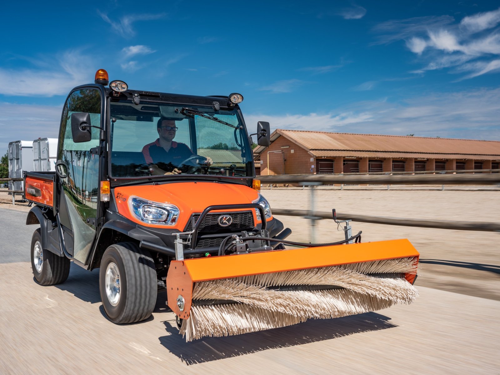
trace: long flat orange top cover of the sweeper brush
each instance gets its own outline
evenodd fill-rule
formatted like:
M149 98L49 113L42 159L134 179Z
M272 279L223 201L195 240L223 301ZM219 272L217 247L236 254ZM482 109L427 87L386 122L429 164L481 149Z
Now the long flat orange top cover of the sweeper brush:
M407 239L184 259L193 282L416 256ZM172 260L170 267L178 260Z

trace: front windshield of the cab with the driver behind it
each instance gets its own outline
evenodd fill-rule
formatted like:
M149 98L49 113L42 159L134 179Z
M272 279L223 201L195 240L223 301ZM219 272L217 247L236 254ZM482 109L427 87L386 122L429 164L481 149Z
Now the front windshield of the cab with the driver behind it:
M110 117L113 177L253 175L236 109L122 100L110 103Z

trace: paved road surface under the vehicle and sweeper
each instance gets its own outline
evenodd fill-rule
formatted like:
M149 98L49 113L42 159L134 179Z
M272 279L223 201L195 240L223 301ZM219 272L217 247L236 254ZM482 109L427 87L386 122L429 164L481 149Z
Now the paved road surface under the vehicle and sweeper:
M71 264L63 284L33 281L35 225L24 220L0 209L1 374L500 372L500 301L426 287L411 305L190 343L161 294L151 318L116 325L103 316L98 271Z

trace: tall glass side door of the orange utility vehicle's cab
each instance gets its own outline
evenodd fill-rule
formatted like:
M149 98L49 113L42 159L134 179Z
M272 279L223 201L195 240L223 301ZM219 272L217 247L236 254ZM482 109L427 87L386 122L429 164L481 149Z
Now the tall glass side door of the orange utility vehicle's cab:
M66 250L74 259L85 263L95 228L86 222L96 217L99 204L99 158L90 148L99 145L99 129L91 128L88 142L73 142L71 114L88 112L90 124L101 126L101 96L95 88L73 91L66 100L59 130L57 159L66 164L67 176L61 178L59 220L64 232Z

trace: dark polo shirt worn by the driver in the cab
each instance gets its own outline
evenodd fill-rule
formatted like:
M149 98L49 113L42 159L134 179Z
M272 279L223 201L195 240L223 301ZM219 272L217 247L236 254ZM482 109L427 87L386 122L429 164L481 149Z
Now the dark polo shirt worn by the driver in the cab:
M185 143L177 143L174 140L172 140L172 146L167 152L160 146L158 138L142 147L142 154L146 164L156 164L161 169L172 170L193 155L193 152Z

